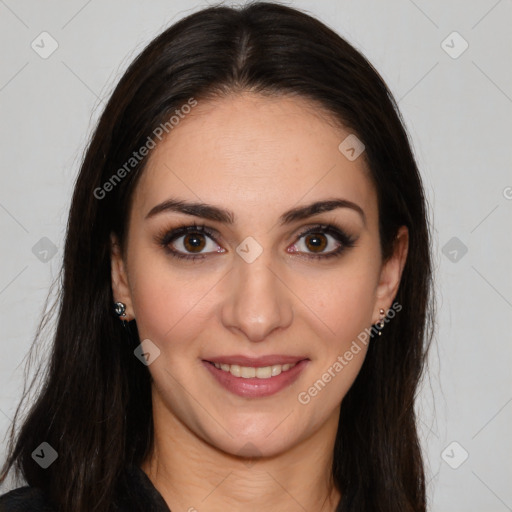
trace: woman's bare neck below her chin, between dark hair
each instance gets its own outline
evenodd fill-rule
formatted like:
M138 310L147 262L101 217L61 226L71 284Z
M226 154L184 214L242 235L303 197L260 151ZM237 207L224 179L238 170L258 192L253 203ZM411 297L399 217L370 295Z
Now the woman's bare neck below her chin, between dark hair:
M154 411L153 450L142 469L171 511L336 511L332 453L339 408L289 450L252 458L216 448L166 408Z

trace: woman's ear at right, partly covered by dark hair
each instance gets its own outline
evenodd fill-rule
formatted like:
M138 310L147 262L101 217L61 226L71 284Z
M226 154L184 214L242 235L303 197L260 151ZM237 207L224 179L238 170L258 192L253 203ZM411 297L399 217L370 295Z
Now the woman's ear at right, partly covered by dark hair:
M382 264L376 292L374 323L378 322L382 316L379 314L379 310L384 309L384 311L387 311L398 293L408 249L409 230L406 226L401 226L393 243L393 253Z

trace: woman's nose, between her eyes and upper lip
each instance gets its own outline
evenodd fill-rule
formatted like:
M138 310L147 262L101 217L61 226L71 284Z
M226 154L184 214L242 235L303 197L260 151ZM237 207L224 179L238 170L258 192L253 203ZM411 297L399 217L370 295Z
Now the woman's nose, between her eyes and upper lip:
M284 281L271 266L270 251L251 263L237 256L222 308L224 326L241 331L253 342L287 328L293 320L293 294Z

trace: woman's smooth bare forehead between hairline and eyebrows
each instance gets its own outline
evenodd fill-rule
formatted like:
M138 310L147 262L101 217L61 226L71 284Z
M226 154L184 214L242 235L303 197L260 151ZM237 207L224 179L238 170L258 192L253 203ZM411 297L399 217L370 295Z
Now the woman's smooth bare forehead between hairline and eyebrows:
M300 97L252 93L198 102L152 150L135 191L141 215L170 196L223 205L237 217L342 197L376 209L364 155L339 150L351 134Z

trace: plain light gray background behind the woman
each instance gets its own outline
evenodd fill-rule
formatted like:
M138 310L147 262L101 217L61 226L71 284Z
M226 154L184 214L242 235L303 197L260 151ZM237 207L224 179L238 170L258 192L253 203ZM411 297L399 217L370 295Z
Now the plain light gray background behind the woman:
M439 305L430 379L418 402L430 509L512 510L512 2L289 4L333 27L380 71L425 180ZM147 42L206 5L0 0L2 436L104 99ZM58 44L47 58L40 54L55 43L43 31Z

